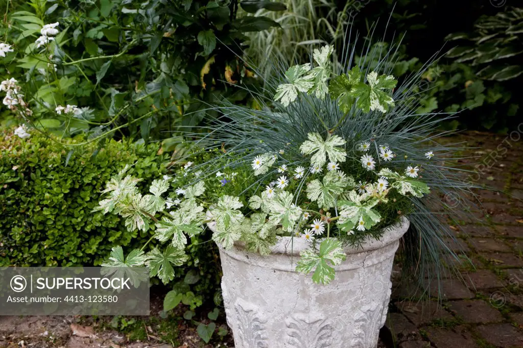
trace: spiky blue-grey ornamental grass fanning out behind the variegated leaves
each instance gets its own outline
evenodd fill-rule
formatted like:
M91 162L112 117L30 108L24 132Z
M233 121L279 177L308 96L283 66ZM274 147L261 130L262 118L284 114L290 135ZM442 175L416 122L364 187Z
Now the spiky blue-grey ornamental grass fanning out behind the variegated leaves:
M334 63L335 73L345 73L354 65L366 66L365 60L377 58L378 64L373 70L379 74L392 74L399 45L393 45L388 51L374 52L378 57L366 56L370 52L370 43L363 45L361 52L356 52L358 36L354 35L353 38L349 31L346 38L343 50L338 52L338 62ZM361 59L356 62L357 53ZM324 137L327 133L342 136L347 141L349 159L359 158L361 153L356 150L356 145L362 141L369 141L373 146L389 145L398 156L387 167L401 172L407 165L420 165L423 168L422 180L431 189L428 197L411 199L413 208L408 214L411 228L401 243L398 255L402 269L414 275L419 283L428 285L431 281L439 281L444 272L447 272L442 259L459 260L457 254L445 243L447 238L456 239L449 228L447 217L462 219L463 215L468 214L467 207L473 204L468 199L474 196L472 189L482 188L467 180L469 171L456 165L457 160L462 159L460 154L465 149L463 144L438 142L438 138L452 134L438 131L438 124L454 118L455 115L415 112L419 106L416 85L421 82L422 74L436 57L437 54L422 69L400 82L393 92L396 106L385 114L372 111L365 113L355 107L344 114L338 109L335 100L329 100L328 97L319 100L303 95L289 107L283 108L272 102L272 97L276 87L285 82L283 74L288 66L286 62L277 61L271 66L271 71L277 72L276 76L266 78L264 87L248 90L259 109L237 106L226 100L220 101L218 105L209 105L209 110L218 112L221 116L206 120L204 127L208 133L186 133L185 136L196 147L223 148L223 157L232 152L244 154L230 163L230 167L245 166L259 154L285 149L287 154L295 158L290 164L307 168L308 158L300 154L299 146L310 132L318 132ZM258 76L264 76L255 67L250 68ZM368 69L366 74L369 72ZM424 154L430 150L434 152L435 158L427 160ZM221 159L212 159L194 170L203 170L204 177L211 176L208 169L219 160ZM347 174L351 175L350 172ZM260 176L253 185L261 185L270 175L274 175L274 171ZM305 180L306 178L302 182ZM303 185L300 189L302 187ZM452 210L444 211L441 197L449 194L462 199Z

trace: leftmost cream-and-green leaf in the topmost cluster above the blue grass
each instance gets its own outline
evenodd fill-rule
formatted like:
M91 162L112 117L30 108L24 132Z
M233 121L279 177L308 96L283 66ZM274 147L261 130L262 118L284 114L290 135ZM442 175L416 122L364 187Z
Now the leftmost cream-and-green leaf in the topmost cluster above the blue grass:
M291 102L296 100L299 91L308 92L314 86L313 77L306 75L310 69L309 63L291 66L285 73L289 83L278 86L274 100L280 100L284 107L288 107Z

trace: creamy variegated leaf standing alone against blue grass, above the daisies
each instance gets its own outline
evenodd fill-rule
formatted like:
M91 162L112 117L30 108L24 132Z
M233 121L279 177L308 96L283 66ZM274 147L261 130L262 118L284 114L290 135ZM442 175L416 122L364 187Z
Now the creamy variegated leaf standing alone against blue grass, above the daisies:
M322 167L327 159L333 162L344 162L347 153L344 148L339 148L338 146L343 146L346 142L342 137L338 135L331 135L327 140L323 140L322 136L319 133L309 133L307 134L309 140L306 140L301 144L300 150L304 155L310 155L314 153L311 157L311 164L313 167L320 166Z

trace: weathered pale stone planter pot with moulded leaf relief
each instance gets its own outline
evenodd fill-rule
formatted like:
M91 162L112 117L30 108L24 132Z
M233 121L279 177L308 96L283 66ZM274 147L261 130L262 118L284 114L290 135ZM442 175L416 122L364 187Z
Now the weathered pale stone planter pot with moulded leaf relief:
M295 272L301 238L282 237L261 257L241 243L220 248L222 295L235 348L371 348L385 323L391 295L394 253L406 232L406 218L363 249L346 248L329 285ZM213 224L209 224L211 230Z

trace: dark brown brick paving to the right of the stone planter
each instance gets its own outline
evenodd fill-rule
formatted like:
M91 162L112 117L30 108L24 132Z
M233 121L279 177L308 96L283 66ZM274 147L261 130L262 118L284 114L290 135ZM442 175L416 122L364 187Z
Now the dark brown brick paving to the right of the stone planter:
M460 280L447 272L442 298L416 292L412 282L394 280L385 323L400 348L523 347L523 138L471 132L460 135L468 155L486 169L476 183L508 192L479 190L474 217L449 221L457 241L446 241L460 251ZM456 141L456 137L452 138ZM504 149L507 149L506 151ZM499 154L503 154L503 156ZM467 165L468 160L461 160ZM470 163L470 162L469 162ZM467 261L471 260L472 264ZM437 294L432 284L430 295Z

